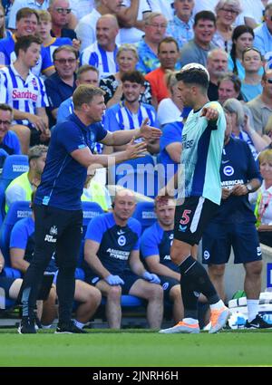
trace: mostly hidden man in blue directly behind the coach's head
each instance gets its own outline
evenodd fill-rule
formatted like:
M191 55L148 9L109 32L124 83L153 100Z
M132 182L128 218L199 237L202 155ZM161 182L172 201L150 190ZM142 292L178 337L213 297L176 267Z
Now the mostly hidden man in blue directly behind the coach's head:
M98 87L99 72L97 68L89 64L82 65L76 72L75 84L78 87L80 84L92 84ZM66 99L60 104L57 111L57 123L61 123L66 120L68 116L73 112L73 96Z

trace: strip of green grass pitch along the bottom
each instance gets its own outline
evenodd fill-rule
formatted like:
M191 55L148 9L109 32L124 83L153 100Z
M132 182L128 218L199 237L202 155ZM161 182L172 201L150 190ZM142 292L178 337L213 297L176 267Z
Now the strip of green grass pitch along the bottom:
M21 335L5 329L0 331L0 366L272 366L271 347L272 330L166 335L103 329Z

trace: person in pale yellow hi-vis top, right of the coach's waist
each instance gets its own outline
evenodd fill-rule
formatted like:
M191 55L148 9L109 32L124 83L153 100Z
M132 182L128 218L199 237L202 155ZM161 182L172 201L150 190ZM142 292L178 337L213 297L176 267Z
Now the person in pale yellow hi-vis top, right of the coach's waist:
M93 179L95 170L91 169L87 172L82 201L96 202L104 211L111 210L112 199L109 190Z

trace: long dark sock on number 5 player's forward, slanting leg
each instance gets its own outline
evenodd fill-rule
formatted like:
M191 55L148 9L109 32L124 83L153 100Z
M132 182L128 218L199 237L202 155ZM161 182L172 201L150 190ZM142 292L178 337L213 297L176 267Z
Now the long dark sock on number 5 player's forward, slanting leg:
M199 261L194 259L191 255L189 255L185 261L180 265L180 274L181 279L180 283L182 284L182 279L184 276L188 277L188 281L190 282L189 290L193 290L194 292L202 293L206 296L209 301L209 304L218 303L220 298L219 294L217 294L214 285L211 283L209 279L209 275L205 268L199 264ZM182 284L182 287L185 284ZM181 287L181 290L182 290ZM181 291L182 293L182 291ZM182 294L183 299L183 294ZM185 305L184 305L185 308Z

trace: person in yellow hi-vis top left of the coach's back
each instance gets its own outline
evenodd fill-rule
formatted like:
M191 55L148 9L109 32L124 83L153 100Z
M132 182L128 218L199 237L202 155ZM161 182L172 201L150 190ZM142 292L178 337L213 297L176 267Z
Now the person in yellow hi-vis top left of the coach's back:
M46 155L47 147L44 145L40 144L29 149L29 170L15 178L5 189L5 212L15 201L31 200L33 191L41 183Z

